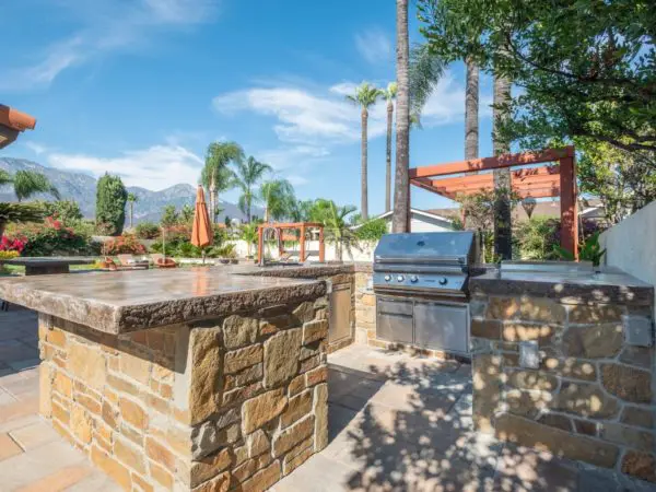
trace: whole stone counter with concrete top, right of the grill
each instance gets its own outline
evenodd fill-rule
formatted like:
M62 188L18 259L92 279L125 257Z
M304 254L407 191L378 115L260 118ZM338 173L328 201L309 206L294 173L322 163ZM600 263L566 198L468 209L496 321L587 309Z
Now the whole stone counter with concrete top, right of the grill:
M477 429L656 482L654 288L543 262L502 263L470 291Z

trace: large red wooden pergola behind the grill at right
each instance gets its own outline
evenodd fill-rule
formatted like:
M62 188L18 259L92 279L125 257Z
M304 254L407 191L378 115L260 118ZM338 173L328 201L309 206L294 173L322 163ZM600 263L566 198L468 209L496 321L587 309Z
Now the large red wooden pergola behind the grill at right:
M458 195L473 195L494 188L491 173L471 173L541 163L558 164L513 171L512 188L522 198L560 197L561 246L577 257L576 165L573 147L414 167L409 169L409 177L411 185L455 199ZM462 176L444 177L454 174ZM434 179L436 177L440 179Z

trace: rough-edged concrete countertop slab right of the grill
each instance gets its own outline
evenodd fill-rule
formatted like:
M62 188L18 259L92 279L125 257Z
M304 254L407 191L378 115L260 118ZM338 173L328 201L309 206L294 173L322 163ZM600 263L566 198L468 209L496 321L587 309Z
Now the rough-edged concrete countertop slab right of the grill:
M472 294L532 295L562 298L573 304L621 302L651 305L654 286L618 269L600 272L489 271L469 280Z

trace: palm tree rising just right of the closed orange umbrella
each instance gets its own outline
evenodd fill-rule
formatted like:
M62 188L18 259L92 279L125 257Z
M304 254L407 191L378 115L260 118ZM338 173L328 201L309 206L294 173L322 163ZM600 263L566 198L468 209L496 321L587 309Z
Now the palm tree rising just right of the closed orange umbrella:
M219 194L233 187L234 173L229 167L231 162L244 159L244 151L236 142L212 142L208 145L206 164L200 175L200 183L209 192L212 222L216 222Z

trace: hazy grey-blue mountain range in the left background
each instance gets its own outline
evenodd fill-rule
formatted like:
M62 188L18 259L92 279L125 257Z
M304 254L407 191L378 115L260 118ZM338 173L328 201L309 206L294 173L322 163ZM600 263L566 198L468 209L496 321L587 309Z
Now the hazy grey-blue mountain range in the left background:
M27 169L45 174L57 187L61 198L75 200L85 218L95 216L96 179L82 173L57 169L55 167L42 166L24 159L0 157L0 169L13 174L16 171ZM108 169L112 172L112 169ZM162 209L167 204L174 204L180 209L184 204L191 204L196 200L196 188L191 185L180 184L161 191L151 191L139 186L128 186L128 191L134 194L139 201L134 204L134 222L157 222L162 215ZM51 200L49 196L37 196L38 199ZM16 201L11 187L0 187L0 201ZM245 219L245 215L234 203L220 200L223 212L220 220L225 215L231 219ZM254 214L262 215L261 210L254 210Z

